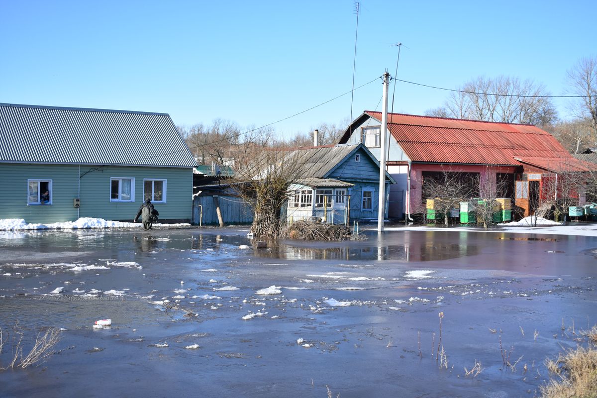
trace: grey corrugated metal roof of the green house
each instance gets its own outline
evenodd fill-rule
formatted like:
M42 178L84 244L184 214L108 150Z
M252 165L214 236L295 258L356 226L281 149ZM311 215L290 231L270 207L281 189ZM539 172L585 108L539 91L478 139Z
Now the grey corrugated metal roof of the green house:
M2 103L0 162L197 165L167 113Z

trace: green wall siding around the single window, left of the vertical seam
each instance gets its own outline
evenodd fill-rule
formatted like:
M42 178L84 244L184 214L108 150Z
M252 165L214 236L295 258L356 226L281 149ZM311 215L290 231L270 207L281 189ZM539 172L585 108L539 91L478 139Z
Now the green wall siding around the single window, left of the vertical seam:
M27 223L58 223L78 218L79 166L0 163L0 218L23 218ZM51 205L27 205L27 180L52 180Z

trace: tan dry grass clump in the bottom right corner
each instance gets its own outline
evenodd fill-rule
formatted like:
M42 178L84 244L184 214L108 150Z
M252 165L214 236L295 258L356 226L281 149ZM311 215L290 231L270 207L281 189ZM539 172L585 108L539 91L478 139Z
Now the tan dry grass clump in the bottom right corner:
M543 398L597 397L597 350L595 347L577 347L559 355L556 360L547 360L547 369L558 380L541 386Z

